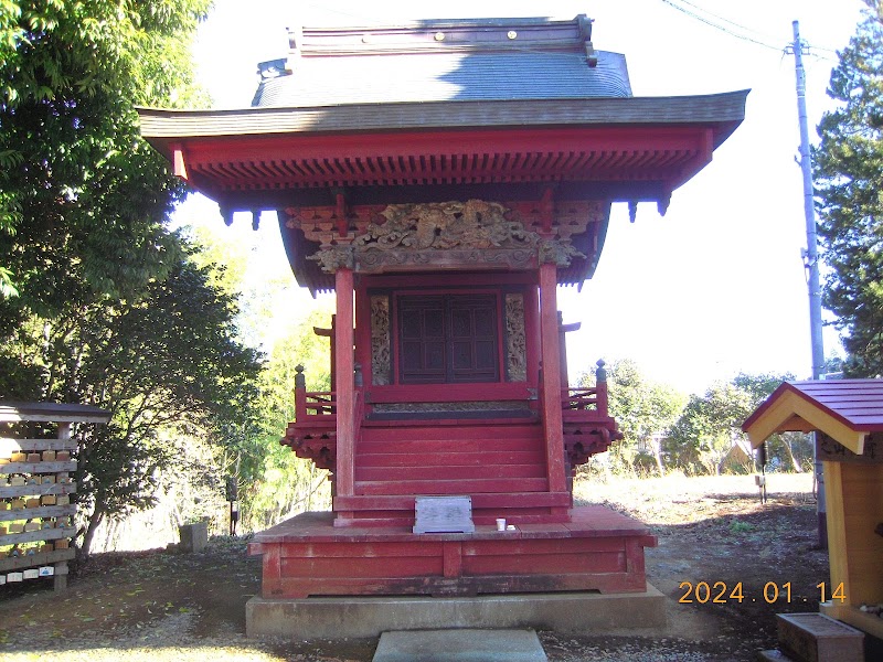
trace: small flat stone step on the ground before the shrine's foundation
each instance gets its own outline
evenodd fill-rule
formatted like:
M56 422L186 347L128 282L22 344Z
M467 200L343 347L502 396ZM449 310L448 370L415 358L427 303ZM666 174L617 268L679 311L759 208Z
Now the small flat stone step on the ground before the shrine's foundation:
M547 662L533 630L384 632L373 662Z

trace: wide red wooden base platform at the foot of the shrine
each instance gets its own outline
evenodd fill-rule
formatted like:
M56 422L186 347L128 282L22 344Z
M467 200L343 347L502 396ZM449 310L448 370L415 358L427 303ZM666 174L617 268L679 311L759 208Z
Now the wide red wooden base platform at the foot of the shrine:
M406 526L336 527L334 514L302 513L258 533L264 598L638 592L643 548L656 536L604 506L571 510L563 523L498 532L413 534Z

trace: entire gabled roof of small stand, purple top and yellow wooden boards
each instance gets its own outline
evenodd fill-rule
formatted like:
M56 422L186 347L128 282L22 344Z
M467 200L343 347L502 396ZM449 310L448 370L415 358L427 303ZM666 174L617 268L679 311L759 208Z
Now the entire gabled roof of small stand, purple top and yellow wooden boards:
M776 433L820 430L861 455L868 434L883 431L883 380L784 382L742 429L755 448Z

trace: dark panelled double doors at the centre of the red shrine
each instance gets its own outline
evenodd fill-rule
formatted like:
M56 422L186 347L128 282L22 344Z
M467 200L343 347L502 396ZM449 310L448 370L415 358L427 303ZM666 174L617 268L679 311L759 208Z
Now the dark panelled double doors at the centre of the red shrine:
M398 383L500 378L496 295L397 297Z

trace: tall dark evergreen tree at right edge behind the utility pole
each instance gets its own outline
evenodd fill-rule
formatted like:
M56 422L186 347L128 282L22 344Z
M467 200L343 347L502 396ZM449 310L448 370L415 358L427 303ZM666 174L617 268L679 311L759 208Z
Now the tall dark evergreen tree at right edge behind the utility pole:
M849 352L848 374L883 374L883 2L839 53L813 152L825 303Z

